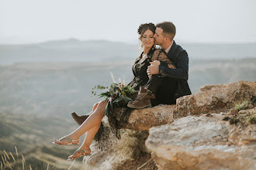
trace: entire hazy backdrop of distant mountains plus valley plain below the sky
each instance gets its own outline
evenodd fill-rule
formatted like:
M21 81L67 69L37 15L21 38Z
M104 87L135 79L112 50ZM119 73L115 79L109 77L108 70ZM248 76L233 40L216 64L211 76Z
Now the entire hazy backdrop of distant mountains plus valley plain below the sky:
M256 43L181 44L189 53L192 93L206 84L256 80ZM11 114L89 113L92 87L129 83L137 46L78 39L0 45L0 111ZM100 92L100 91L99 91Z

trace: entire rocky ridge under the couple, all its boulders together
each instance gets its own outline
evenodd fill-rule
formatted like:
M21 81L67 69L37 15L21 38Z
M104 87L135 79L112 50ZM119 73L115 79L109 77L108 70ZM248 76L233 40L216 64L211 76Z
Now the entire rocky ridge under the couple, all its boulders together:
M130 161L139 168L148 157L144 162L137 158L149 153L154 162L140 169L256 168L255 104L234 109L255 97L256 83L239 81L200 90L178 98L176 105L133 110L123 119L123 128L131 130L109 150L85 157L85 169L130 169Z

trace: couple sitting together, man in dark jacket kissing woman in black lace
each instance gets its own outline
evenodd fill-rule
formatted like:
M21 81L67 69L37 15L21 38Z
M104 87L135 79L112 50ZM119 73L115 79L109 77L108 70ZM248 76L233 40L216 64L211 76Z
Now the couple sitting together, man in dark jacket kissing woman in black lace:
M141 24L138 33L144 51L133 64L133 80L129 83L138 93L135 100L127 104L127 108L141 109L158 104L175 104L178 97L191 94L187 82L189 57L173 40L175 25L172 22L161 22L157 26L153 23ZM161 46L161 49L156 49L155 44ZM68 160L91 155L89 146L99 131L107 103L108 101L102 100L94 104L89 115L79 117L72 113L74 120L81 126L53 143L78 145L80 136L85 132L87 134L81 147Z

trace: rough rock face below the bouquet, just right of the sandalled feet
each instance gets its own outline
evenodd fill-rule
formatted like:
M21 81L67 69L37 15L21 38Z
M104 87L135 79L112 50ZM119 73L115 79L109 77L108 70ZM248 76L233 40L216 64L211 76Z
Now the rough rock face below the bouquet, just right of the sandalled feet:
M140 157L140 165L147 162L141 157L148 158L147 155L150 154L145 147L148 131L123 130L121 134L121 139L117 144L106 151L97 151L96 144L91 146L93 154L84 158L85 170L120 169L119 167L122 167L126 162L137 162L138 157ZM150 169L156 168L154 162L151 163L150 167Z

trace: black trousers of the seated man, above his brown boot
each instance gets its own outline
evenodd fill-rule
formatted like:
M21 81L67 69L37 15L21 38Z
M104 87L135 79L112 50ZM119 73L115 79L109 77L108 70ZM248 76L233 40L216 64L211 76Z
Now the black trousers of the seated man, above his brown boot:
M152 106L158 104L176 104L175 91L177 90L177 80L171 77L153 75L145 87L154 93L155 99L151 100Z

